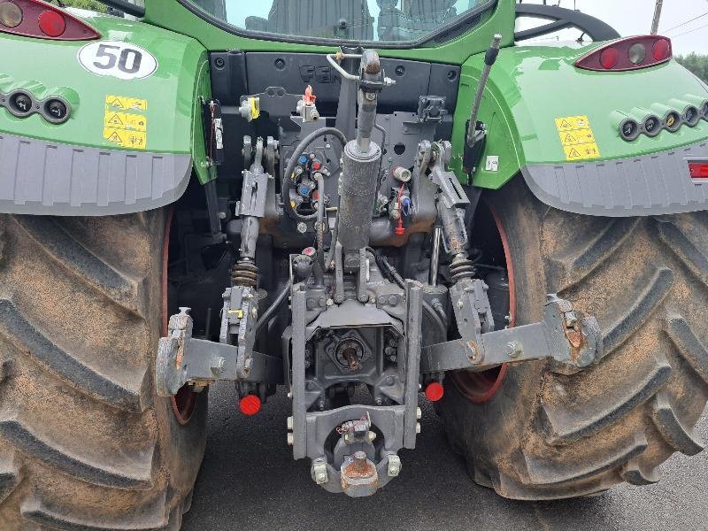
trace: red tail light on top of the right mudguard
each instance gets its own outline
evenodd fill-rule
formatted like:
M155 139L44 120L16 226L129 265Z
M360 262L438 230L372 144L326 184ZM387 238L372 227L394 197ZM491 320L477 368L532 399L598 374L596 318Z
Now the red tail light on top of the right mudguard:
M671 40L659 35L629 37L592 50L575 66L596 72L625 72L666 63L673 57Z

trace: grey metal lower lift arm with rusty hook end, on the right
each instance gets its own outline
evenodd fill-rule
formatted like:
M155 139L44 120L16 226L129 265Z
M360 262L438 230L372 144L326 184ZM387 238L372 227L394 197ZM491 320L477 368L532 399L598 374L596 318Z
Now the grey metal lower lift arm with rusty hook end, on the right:
M570 302L549 295L543 307L543 321L480 334L476 340L468 335L464 339L425 347L420 372L485 371L503 363L533 359L550 359L560 366L583 369L595 364L603 355L597 320L579 317Z

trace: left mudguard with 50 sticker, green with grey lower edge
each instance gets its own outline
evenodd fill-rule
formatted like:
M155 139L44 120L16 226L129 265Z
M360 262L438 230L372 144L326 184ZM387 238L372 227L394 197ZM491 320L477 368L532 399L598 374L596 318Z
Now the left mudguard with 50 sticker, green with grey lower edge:
M127 19L82 19L100 39L0 33L0 212L141 212L176 201L193 172L210 179L204 47ZM12 104L18 93L31 112ZM52 119L51 99L68 105L67 119Z

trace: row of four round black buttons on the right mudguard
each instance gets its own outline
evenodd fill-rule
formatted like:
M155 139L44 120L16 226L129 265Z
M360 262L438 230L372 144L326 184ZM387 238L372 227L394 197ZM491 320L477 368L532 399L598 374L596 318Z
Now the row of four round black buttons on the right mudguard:
M696 96L689 97L692 100L698 99ZM640 135L653 138L662 131L676 133L683 126L696 127L701 119L708 121L708 100L697 105L682 100L673 101L673 103L681 111L657 105L663 114L647 112L640 115L642 118L639 119L632 117L622 119L620 121L620 136L627 142L633 142Z

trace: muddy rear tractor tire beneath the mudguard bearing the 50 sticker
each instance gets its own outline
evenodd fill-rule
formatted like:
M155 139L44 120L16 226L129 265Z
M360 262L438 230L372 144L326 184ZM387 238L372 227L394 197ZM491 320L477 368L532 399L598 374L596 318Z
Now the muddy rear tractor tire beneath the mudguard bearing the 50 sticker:
M207 393L154 390L166 217L0 217L0 528L181 527Z

